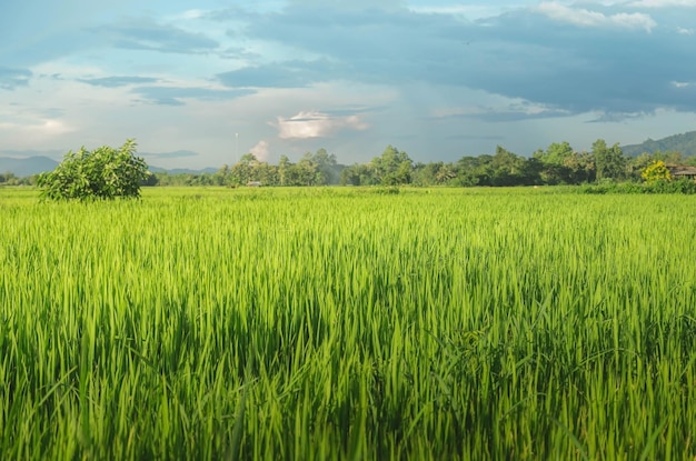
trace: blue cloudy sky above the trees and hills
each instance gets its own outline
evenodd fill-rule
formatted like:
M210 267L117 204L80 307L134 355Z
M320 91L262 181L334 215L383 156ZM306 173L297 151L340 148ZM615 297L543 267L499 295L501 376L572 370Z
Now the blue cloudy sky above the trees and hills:
M696 0L3 0L0 156L418 162L696 130Z

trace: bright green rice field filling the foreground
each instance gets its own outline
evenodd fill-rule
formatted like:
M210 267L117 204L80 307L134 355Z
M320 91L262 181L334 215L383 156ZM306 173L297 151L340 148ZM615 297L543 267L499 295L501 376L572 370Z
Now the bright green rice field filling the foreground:
M693 459L696 198L0 189L0 459Z

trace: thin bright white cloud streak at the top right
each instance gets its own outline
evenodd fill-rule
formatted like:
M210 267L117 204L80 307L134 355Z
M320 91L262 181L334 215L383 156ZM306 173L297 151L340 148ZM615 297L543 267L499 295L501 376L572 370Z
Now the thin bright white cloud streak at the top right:
M620 27L625 29L645 29L650 32L657 22L645 13L604 14L584 8L570 8L557 2L544 2L537 7L540 13L563 22L581 27Z

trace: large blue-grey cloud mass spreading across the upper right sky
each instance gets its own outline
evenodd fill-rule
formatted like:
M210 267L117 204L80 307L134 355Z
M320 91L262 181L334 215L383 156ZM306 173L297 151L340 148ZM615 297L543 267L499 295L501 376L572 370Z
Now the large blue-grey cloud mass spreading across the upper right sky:
M386 86L424 82L546 107L543 113L481 114L496 120L588 111L605 112L609 120L658 108L696 111L696 86L675 84L696 80L696 34L684 33L683 18L674 11L591 3L516 9L467 22L396 3L389 9L371 4L338 9L294 1L280 12L258 14L243 29L248 39L321 59L259 64L218 78L230 87L306 87L346 79Z

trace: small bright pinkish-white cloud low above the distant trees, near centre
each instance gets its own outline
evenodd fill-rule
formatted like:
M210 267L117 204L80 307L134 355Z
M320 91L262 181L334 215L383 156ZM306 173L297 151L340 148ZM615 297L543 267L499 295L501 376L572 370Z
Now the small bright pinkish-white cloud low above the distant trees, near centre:
M331 117L318 111L299 112L297 116L277 118L278 136L281 139L324 138L340 129L366 130L358 116Z

